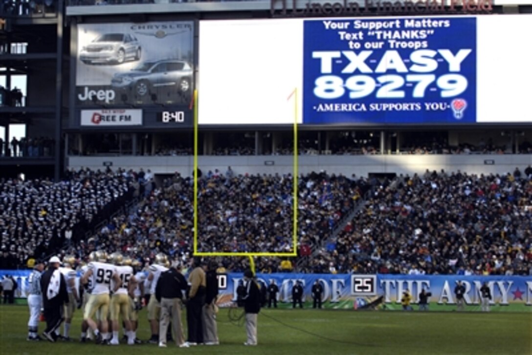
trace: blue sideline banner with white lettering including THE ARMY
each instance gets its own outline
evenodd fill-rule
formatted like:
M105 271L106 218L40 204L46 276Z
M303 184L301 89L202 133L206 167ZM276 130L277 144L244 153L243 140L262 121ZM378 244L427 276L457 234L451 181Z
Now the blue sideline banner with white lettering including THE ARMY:
M11 275L19 287L15 297L26 298L30 270L0 270L0 279ZM237 287L243 280L242 273L219 275L219 306L228 307L236 300ZM480 287L484 282L492 293L492 305L511 306L512 311L532 311L532 276L459 276L459 275L353 275L353 274L257 274L257 280L270 284L273 280L279 287L278 301L292 302L292 287L301 281L304 300L312 301L311 288L315 280L323 286L323 302L327 308L356 308L384 296L386 305L401 303L403 291L412 294L412 303L418 302L422 288L430 292L431 305L438 310L454 310L454 287L458 280L465 285L465 303L469 306L480 305ZM451 305L445 308L443 306ZM393 307L389 307L393 308ZM502 309L505 309L504 307Z

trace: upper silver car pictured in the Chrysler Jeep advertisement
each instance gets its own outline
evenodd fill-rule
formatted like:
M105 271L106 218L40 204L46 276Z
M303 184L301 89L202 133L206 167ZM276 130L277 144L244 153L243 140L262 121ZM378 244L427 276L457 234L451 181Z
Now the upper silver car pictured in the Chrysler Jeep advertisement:
M85 64L116 63L139 60L142 48L137 37L131 34L112 33L96 37L81 48L79 59Z

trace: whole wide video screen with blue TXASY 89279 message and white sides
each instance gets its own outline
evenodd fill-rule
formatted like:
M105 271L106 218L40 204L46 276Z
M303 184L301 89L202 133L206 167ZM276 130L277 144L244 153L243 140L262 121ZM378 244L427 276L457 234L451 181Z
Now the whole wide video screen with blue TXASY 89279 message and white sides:
M200 21L199 123L532 122L530 15Z

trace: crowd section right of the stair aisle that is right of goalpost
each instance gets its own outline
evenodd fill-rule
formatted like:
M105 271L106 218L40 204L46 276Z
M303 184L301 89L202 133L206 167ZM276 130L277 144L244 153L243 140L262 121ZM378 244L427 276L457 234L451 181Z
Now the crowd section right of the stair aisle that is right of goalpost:
M532 167L383 181L306 271L532 275Z

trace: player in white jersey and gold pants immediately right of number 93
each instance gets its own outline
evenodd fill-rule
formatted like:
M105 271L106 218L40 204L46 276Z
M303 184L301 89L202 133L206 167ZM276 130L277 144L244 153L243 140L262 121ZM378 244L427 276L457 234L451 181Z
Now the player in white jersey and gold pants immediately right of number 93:
M121 253L115 252L111 254L111 261L116 266L118 277L121 285L111 297L111 321L113 329L113 338L111 345L120 344L118 340L119 326L118 318L122 315L122 321L126 324L126 334L128 337L128 345L135 344L135 336L131 332L130 323L130 304L129 299L133 297L133 290L137 283L131 267L131 259L122 257ZM111 280L111 289L115 288L114 280Z

